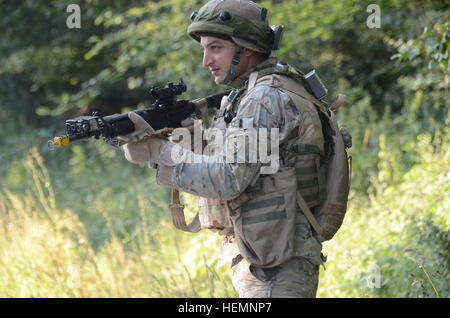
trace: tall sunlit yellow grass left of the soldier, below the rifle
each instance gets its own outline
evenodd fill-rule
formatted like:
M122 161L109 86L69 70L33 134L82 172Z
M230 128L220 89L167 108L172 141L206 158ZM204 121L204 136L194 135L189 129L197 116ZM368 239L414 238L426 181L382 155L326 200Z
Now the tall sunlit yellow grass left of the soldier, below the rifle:
M96 252L77 214L57 209L36 150L25 166L33 187L23 195L5 189L0 197L0 296L235 296L226 270L216 268L217 236L175 231L167 218L151 224L151 205L137 195L139 226L120 237L97 207L111 239Z

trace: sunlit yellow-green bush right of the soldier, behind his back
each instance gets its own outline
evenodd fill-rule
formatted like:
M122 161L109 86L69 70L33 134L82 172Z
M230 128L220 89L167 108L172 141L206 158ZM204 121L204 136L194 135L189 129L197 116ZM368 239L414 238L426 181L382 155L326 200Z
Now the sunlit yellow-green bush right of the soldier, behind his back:
M384 165L375 194L354 197L342 229L324 243L329 263L319 296L449 296L448 135L433 142L421 135L410 146L419 162L390 184L379 182L388 173Z

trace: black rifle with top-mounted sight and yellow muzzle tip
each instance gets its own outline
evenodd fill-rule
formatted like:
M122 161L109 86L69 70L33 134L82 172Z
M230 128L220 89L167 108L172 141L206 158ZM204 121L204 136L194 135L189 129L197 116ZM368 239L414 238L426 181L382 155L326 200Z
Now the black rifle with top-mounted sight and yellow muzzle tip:
M134 110L155 130L181 127L181 122L195 112L195 104L188 100L175 100L187 90L186 84L180 78L178 84L168 83L166 87L153 87L150 94L155 102L143 110ZM205 97L208 108L220 108L220 101L228 92ZM66 120L66 135L54 137L48 141L50 149L64 147L76 140L100 137L105 142L117 146L117 136L134 131L134 124L128 118L128 113L114 114L102 117L94 112L91 116L80 116Z

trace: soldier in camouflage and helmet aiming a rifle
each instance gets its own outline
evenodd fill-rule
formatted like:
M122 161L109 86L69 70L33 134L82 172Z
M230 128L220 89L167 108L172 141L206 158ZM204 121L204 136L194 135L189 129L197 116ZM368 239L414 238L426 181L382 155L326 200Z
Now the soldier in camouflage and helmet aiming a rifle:
M127 160L157 164L159 185L199 197L194 222L186 226L174 216L174 223L223 236L219 263L231 262L240 297L315 297L322 245L296 195L310 208L323 197L318 101L303 86L302 73L270 57L281 35L266 14L252 1L211 0L191 16L188 34L203 49L203 66L217 84L234 88L222 99L211 128L224 132L221 151L195 154L165 139L140 140L153 130L134 113L129 116L136 132L121 139L128 142ZM230 128L236 130L228 133ZM242 162L224 159L230 151L249 149L245 135L252 129L266 129L267 142L279 142L275 173L264 174L267 163L254 162L247 153ZM199 160L183 160L187 157Z

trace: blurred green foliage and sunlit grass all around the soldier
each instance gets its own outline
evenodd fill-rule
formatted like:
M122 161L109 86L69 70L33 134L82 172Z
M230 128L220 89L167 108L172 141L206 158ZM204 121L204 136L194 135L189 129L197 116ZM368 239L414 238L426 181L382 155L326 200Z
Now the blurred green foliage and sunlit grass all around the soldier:
M347 95L351 200L318 296L448 297L445 1L257 2L286 26L277 56ZM65 119L145 107L179 77L187 99L221 90L185 31L203 1L78 1L80 29L70 3L0 0L0 296L235 297L218 236L173 229L153 170L102 141L46 146Z

